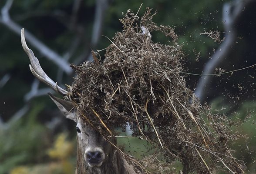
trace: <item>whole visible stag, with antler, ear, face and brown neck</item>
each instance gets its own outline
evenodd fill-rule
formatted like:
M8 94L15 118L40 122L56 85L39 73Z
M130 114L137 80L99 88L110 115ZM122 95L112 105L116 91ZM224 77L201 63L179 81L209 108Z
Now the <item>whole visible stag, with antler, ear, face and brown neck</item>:
M21 30L21 44L30 59L29 67L32 74L55 92L63 96L67 95L67 90L58 86L57 82L54 83L47 76L33 51L27 47L24 29ZM77 116L76 107L71 101L55 97L51 93L48 95L61 113L76 123L77 167L75 174L136 174L133 167L114 146L117 143L116 137L105 140L90 124Z

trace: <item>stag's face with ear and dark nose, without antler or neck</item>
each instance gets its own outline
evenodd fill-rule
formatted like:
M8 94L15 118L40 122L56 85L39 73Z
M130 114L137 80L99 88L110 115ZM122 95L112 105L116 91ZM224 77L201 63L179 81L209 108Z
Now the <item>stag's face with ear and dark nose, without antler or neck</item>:
M84 161L87 162L89 167L101 167L111 151L111 144L104 140L98 132L94 131L84 119L77 117L77 111L72 102L57 98L51 93L48 94L62 114L76 122L77 147L80 155L83 155ZM113 141L115 140L113 139Z

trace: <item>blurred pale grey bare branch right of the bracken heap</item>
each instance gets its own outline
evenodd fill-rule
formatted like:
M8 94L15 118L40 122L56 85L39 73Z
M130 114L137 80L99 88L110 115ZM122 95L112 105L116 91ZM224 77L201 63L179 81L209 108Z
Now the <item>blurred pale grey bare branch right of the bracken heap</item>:
M234 24L238 20L238 17L241 16L244 7L248 5L251 0L234 0L232 3L225 3L223 6L223 25L225 28L225 37L226 39L220 44L219 49L212 55L204 69L203 75L213 74L215 68L221 63L224 57L226 57L230 48L235 44L236 39L236 29ZM205 95L207 92L207 86L209 85L212 76L202 76L196 86L195 95L203 103L205 101Z

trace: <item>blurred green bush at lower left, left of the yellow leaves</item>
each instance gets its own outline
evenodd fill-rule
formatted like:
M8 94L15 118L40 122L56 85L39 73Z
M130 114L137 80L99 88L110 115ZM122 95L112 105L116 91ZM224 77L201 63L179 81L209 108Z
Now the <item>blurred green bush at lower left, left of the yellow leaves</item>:
M42 149L47 143L47 131L37 122L38 113L44 108L37 104L22 119L0 128L0 173L5 174L18 164L34 163L45 156Z

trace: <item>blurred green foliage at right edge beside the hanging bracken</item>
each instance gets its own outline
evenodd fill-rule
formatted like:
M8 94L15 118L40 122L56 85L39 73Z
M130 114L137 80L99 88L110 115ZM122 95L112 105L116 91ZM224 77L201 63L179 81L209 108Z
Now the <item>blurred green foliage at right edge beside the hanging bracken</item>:
M230 141L234 149L234 157L246 162L248 173L256 172L256 103L254 101L243 102L236 110L231 110L230 104L224 102L221 97L212 101L212 112L228 114L233 121L232 131L240 136L237 140Z

